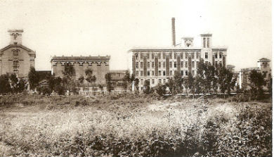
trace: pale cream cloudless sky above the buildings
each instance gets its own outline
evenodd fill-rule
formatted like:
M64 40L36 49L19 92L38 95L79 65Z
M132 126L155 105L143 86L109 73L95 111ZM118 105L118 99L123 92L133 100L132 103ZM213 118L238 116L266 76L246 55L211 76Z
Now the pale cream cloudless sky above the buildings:
M110 70L126 70L129 49L171 46L173 17L176 44L194 37L201 46L200 34L211 33L236 70L272 57L271 0L1 0L0 47L9 43L7 30L23 29L37 70L51 70L54 55L110 55Z

